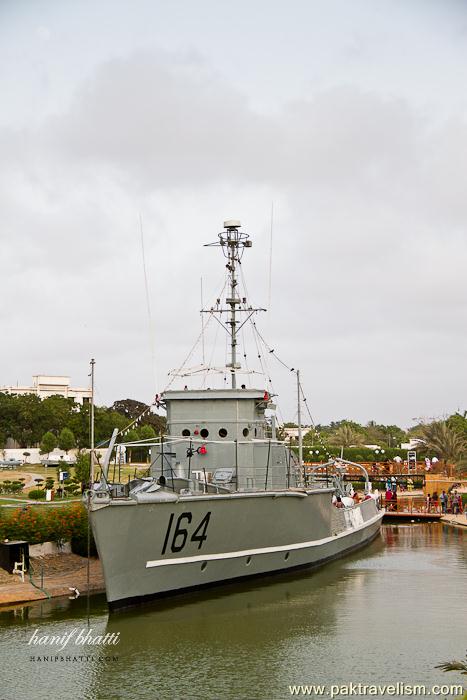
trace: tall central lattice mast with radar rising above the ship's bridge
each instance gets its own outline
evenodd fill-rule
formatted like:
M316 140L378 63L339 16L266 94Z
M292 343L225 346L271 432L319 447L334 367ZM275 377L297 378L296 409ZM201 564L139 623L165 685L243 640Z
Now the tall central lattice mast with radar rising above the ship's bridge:
M251 306L246 307L246 299L240 298L238 295L238 279L237 279L237 266L240 264L243 252L245 248L251 248L252 242L249 240L247 233L240 231L241 224L237 219L229 219L224 221L224 229L222 233L219 233L219 241L216 243L207 243L208 246L220 246L224 256L227 258L226 268L229 272L229 296L226 298L225 302L227 309L219 308L220 299L217 300L218 306L211 309L202 309L202 313L218 313L223 314L228 313L228 321L226 325L229 327L228 332L230 335L230 362L227 363L227 367L230 369L232 389L237 388L237 370L241 369L241 364L237 362L237 334L240 328L246 323L246 321L257 311L265 311L265 309L253 309ZM243 304L244 308L240 309L240 305ZM246 311L248 314L247 319L240 322L238 319L239 311Z

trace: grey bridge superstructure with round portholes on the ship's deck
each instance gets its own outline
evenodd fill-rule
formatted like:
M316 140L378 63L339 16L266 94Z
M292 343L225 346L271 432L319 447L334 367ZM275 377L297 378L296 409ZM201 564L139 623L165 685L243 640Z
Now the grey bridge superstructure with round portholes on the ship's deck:
M296 460L275 437L274 409L258 389L166 391L168 437L151 448L151 476L210 490L296 486ZM206 484L212 484L208 487Z

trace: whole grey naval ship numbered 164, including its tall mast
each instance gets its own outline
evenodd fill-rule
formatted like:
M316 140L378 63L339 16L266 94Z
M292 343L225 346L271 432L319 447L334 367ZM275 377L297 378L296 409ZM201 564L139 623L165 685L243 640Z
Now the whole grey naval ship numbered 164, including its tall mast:
M158 397L167 435L151 442L148 476L126 484L108 479L114 432L87 498L111 609L318 566L380 530L377 499L356 504L346 494L345 463L330 460L327 478L314 477L303 465L301 440L297 458L277 439L270 393L237 386L241 314L255 311L237 279L251 240L233 220L211 245L227 259L227 297L209 313L219 313L228 331L231 387L169 389Z

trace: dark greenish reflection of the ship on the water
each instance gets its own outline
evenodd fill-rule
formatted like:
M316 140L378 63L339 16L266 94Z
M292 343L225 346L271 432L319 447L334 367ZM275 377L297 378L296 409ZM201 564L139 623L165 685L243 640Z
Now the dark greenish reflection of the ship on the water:
M383 542L377 538L365 550L365 559L378 557L382 551ZM310 662L317 660L340 628L337 611L342 612L343 600L355 588L364 588L362 579L368 576L368 572L347 568L349 563L358 564L361 557L361 553L349 555L313 573L289 572L111 615L106 632L120 632L119 664L103 662L101 673L94 676L91 697L119 697L123 674L138 678L141 697L150 696L151 684L158 690L157 697L186 697L184 691L191 682L190 697L201 698L209 679L216 678L208 696L233 697L227 685L231 678L225 673L218 678L218 664L224 670L231 667L238 676L237 662L245 675L251 673L251 688L258 666L268 669L271 686L279 688L280 679L289 672L284 667L290 663L291 648L300 648L306 639ZM326 660L321 662L324 665ZM236 682L243 684L237 697L268 697L256 686L254 693L245 694L246 681L237 678Z

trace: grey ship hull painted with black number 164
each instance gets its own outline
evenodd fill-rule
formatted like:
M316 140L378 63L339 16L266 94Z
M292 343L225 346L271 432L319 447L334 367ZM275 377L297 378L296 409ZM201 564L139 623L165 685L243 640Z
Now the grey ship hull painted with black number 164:
M91 509L109 607L320 566L379 532L371 499L343 510L331 490L113 500Z

